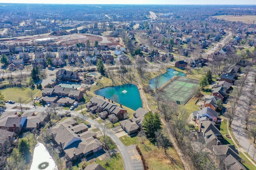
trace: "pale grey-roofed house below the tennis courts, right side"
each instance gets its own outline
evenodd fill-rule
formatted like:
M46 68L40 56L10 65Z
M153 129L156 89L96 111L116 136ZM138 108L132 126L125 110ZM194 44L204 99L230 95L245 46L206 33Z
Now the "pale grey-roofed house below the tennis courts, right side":
M193 119L196 121L196 123L202 121L213 121L218 124L221 123L221 119L218 118L218 112L211 107L204 107L201 110L194 111Z

